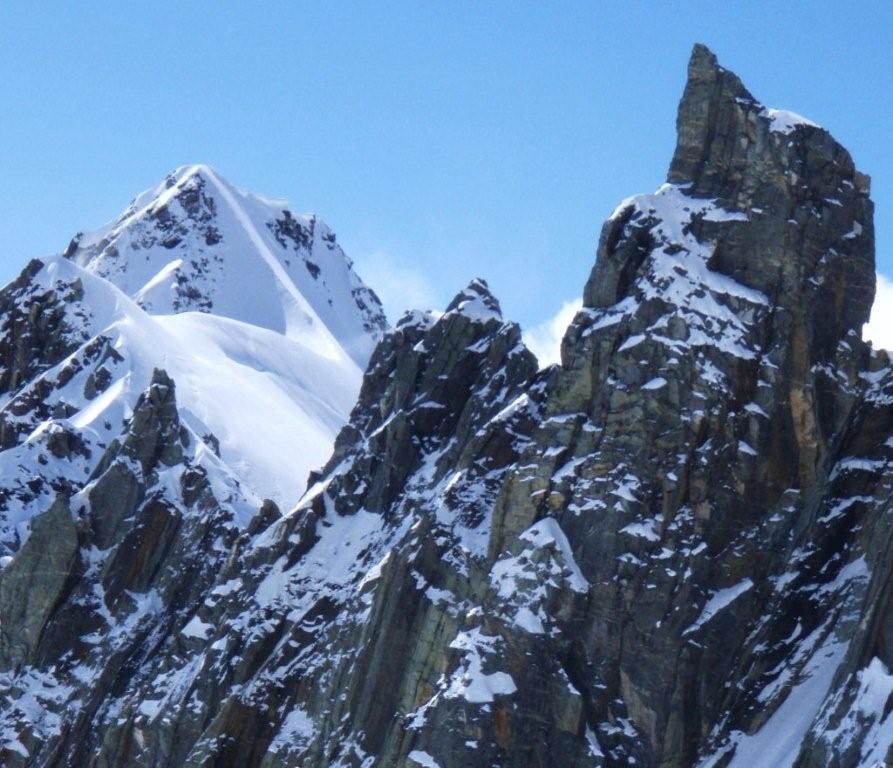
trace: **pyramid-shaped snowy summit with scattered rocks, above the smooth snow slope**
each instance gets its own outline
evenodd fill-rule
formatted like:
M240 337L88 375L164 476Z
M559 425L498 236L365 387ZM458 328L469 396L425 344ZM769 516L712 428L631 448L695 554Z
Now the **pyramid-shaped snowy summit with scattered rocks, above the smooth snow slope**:
M241 190L208 165L178 168L115 220L79 233L65 256L151 314L229 317L360 367L386 325L320 219Z

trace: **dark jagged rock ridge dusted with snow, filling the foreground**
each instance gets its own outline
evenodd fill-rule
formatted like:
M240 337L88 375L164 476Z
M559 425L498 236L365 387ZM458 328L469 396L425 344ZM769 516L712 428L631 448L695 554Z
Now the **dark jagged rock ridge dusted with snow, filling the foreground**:
M113 238L30 264L0 294L0 763L893 765L869 179L700 45L677 133L560 365L483 280L407 313L284 513L161 366L81 428L125 357L88 331ZM116 285L151 310L168 274ZM184 279L166 301L225 295Z

